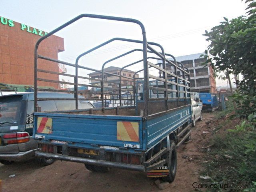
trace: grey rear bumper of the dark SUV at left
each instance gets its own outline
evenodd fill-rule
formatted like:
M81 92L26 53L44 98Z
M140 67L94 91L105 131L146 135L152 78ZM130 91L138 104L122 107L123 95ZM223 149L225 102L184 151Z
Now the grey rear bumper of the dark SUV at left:
M26 152L19 152L19 153L7 153L7 154L0 154L0 160L7 160L7 161L20 161L32 158L35 155L35 151L37 149L29 150Z

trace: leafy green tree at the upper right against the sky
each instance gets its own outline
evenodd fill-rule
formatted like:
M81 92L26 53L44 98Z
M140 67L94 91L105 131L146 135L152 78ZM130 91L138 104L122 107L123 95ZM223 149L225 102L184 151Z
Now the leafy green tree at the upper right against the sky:
M206 54L215 73L242 74L234 95L238 114L246 118L256 111L256 2L246 0L247 16L239 16L215 26L204 36L210 42ZM204 55L207 58L206 55Z

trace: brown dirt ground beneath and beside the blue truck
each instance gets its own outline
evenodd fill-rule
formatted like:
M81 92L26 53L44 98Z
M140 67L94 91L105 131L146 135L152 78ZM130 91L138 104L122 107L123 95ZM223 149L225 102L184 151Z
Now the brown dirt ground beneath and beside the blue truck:
M164 191L190 192L198 182L200 162L204 161L202 147L207 138L205 121L212 113L203 113L203 121L192 128L192 140L178 149L178 168L174 182ZM8 176L15 174L13 178ZM146 174L128 170L111 169L108 173L90 172L84 164L56 161L50 166L40 166L36 160L18 162L9 166L0 164L3 192L156 192L162 191L154 179Z

